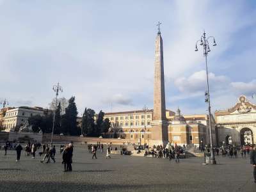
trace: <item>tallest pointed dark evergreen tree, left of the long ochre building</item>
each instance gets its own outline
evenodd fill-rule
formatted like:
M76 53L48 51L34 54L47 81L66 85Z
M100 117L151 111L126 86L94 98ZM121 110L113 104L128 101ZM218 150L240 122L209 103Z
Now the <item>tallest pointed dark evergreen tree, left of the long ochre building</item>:
M61 132L68 135L79 134L79 130L77 128L77 114L75 97L71 97L68 100L68 106L65 109L65 114L61 119Z

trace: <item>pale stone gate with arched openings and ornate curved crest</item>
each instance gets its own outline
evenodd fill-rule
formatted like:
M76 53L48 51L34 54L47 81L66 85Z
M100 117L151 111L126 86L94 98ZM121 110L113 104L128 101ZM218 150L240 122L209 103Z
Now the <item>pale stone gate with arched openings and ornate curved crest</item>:
M218 143L254 144L256 141L256 106L241 95L234 107L215 111Z

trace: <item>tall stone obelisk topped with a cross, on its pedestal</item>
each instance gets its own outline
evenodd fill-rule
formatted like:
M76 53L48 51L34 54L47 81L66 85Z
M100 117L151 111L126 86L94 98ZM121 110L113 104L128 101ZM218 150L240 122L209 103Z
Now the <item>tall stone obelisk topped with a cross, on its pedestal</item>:
M151 145L166 145L168 143L168 122L166 121L165 93L164 93L164 57L163 39L158 22L156 36L155 72L154 72L154 113L152 121Z

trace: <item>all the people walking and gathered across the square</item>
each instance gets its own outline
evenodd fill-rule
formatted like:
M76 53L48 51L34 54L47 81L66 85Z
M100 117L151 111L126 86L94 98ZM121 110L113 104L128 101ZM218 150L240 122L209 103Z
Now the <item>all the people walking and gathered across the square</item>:
M0 147L1 148L1 147ZM23 150L20 143L12 143L9 141L6 141L6 143L3 146L4 148L4 156L7 155L7 150L16 150L17 152L17 158L16 161L20 161L20 154ZM120 151L124 150L124 145L120 146ZM134 148L135 145L134 145ZM142 149L143 147L139 146L138 150ZM145 156L152 156L157 158L165 158L169 159L170 161L172 159L175 159L175 163L180 162L180 155L184 156L184 151L186 150L185 146L179 146L177 144L173 145L166 145L164 148L163 145L154 145L152 148L149 148L148 145L145 145ZM32 156L33 159L35 159L36 151L38 151L38 155L41 157L44 156L41 163L51 163L52 161L55 163L55 155L56 155L56 147L55 145L49 146L48 144L41 144L38 142L30 143L28 142L24 148L24 154L25 156ZM97 150L99 152L103 152L104 145L102 143L97 142L97 144L88 144L88 152L92 154L92 159L97 159ZM112 143L107 144L107 150L106 150L106 158L111 158L111 150L112 150ZM137 149L137 148L136 148ZM60 154L62 154L62 164L64 164L64 172L71 172L72 171L72 157L73 157L73 143L69 143L68 145L60 145ZM117 147L115 148L117 150ZM210 152L209 147L202 147L200 148L201 151ZM241 158L245 158L246 156L250 156L250 163L253 164L253 176L255 178L256 182L256 146L235 146L235 145L225 145L218 147L213 147L214 154L222 155L223 157L230 157L230 158L236 158L241 155ZM124 154L124 153L121 153Z

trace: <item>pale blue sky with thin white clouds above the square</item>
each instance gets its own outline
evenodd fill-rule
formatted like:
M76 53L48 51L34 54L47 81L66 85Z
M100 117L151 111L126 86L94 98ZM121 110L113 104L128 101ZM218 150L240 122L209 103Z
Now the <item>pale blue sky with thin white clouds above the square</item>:
M161 24L166 108L206 114L202 33L212 111L256 100L256 2L0 0L0 101L49 107L52 86L97 113L153 108L154 44ZM212 43L211 40L209 42Z

